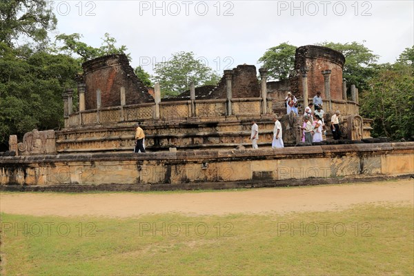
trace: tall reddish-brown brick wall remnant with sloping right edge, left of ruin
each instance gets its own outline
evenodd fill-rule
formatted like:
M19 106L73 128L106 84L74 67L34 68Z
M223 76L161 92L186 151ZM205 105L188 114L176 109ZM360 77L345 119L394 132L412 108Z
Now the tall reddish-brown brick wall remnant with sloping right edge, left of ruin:
M86 110L97 109L97 91L101 107L121 106L121 89L125 90L126 104L154 101L148 89L129 65L126 55L109 55L82 64L86 83Z

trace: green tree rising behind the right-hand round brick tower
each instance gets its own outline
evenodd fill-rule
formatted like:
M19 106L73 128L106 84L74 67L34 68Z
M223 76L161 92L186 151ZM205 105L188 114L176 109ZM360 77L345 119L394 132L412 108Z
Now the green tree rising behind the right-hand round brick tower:
M344 44L325 41L317 45L341 52L346 60L343 71L344 79L350 84L355 84L359 90L369 88L368 79L375 75L375 62L378 59L373 51L366 48L363 43L355 41Z

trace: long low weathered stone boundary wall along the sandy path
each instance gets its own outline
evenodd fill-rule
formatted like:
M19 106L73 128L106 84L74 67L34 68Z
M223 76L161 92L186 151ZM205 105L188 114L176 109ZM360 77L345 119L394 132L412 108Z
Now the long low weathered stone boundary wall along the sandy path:
M1 190L172 190L414 174L414 142L0 158Z

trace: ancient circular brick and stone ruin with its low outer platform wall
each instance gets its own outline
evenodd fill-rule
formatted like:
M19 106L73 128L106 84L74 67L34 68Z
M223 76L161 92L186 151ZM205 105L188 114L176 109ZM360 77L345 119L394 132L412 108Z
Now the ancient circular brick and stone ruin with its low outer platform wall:
M77 78L77 108L73 89L62 94L62 130L32 130L20 143L10 136L10 152L18 156L0 158L0 188L251 187L411 173L413 143L356 144L370 137L372 120L359 115L358 90L342 80L344 63L335 50L302 46L287 80L267 81L266 69L259 68L259 81L257 68L244 64L224 70L216 86L192 85L177 97L161 99L160 86L144 86L125 55L87 61ZM298 99L299 116L286 115L288 91ZM340 110L342 138L352 144L294 147L302 136L304 106L317 91L325 124ZM279 150L270 147L275 116L286 146ZM259 150L251 149L252 119L259 125ZM132 153L137 121L146 133L145 154ZM331 137L328 130L328 141Z

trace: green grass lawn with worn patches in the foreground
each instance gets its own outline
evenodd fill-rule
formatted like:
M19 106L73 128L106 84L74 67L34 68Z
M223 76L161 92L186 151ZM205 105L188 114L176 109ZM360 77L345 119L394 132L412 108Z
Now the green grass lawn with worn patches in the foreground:
M412 206L115 219L1 213L3 275L413 275Z

